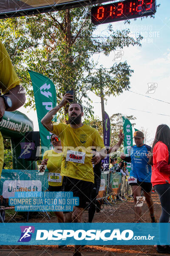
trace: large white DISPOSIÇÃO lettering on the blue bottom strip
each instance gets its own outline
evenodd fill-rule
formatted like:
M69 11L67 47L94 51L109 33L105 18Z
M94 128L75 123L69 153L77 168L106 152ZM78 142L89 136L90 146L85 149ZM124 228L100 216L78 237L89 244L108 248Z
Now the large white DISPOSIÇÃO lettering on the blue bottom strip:
M67 240L74 238L81 240L130 240L133 238L132 230L37 230L36 240Z

